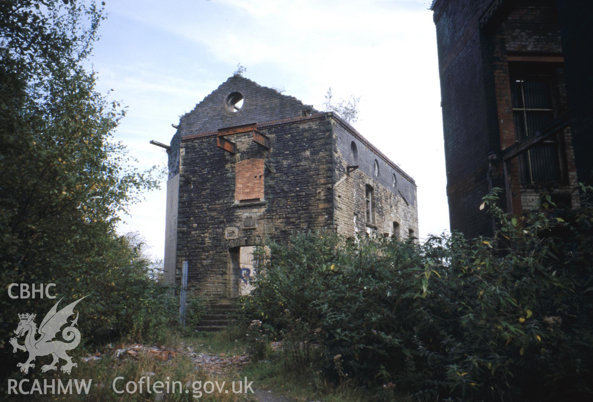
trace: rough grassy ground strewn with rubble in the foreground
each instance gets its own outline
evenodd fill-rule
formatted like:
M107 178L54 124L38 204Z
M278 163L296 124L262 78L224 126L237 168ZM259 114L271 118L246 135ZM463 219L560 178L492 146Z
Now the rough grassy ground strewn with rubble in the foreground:
M72 379L89 379L93 382L88 395L53 395L52 400L89 400L89 401L154 401L156 394L148 393L146 385L143 392L133 394L116 394L112 384L117 377L123 377L116 383L118 390L125 390L126 382L132 381L138 387L142 377L150 377L151 384L161 381L179 381L176 385L176 392L167 394L165 401L195 401L193 395L200 396L199 400L206 401L246 401L256 400L251 394L233 394L232 381L247 377L247 381L253 381L253 390L263 390L266 393L271 390L270 397L282 395L298 401L323 400L329 402L355 402L355 401L408 401L407 398L397 398L391 390L361 390L353 385L334 384L327 381L316 371L313 365L294 369L286 369L286 356L280 350L270 350L266 360L252 362L248 365L232 368L224 374L216 375L206 372L203 368L196 367L196 363L190 356L181 353L181 350L191 347L194 352L208 353L209 355L225 356L240 355L245 353L246 343L239 342L232 336L232 329L219 333L196 333L195 336L178 336L171 334L171 337L164 346L177 349L176 356L168 361L161 361L149 356L146 353L139 353L134 358L117 359L104 353L101 359L90 362L78 361L78 367L72 370L71 375L62 372L46 373L42 378L61 379L62 382ZM111 350L111 354L113 350ZM218 381L221 385L225 381L224 390L229 393L219 393L216 388L211 394L203 392L204 384L208 381ZM146 380L144 380L146 382ZM200 382L197 384L197 382ZM236 384L235 384L236 385ZM131 386L131 385L130 385ZM186 390L188 391L186 393ZM201 391L201 392L200 392ZM200 395L201 393L201 395Z

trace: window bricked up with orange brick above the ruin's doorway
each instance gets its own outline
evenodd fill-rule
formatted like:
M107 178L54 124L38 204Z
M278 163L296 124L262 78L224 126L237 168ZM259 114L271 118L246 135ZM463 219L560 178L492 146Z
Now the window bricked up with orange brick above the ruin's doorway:
M264 198L263 159L246 159L235 164L235 202L257 202Z

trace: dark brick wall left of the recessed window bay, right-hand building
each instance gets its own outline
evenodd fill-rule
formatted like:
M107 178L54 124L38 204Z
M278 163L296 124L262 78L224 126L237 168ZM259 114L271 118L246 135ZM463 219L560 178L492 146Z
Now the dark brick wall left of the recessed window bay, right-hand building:
M490 235L492 221L479 210L489 192L490 152L498 148L492 107L490 46L480 33L486 5L475 0L435 3L441 106L451 230Z

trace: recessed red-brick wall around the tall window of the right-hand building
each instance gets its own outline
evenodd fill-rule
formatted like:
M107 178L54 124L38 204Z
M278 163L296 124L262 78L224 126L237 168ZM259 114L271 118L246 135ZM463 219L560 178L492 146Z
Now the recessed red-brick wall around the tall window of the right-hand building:
M500 149L513 145L517 139L513 122L511 79L519 71L547 76L551 80L552 98L557 117L568 110L565 69L562 63L517 62L514 55L562 55L562 43L555 4L552 1L523 0L517 2L502 23L493 30L493 68L495 75L496 106L500 130ZM511 61L509 61L511 59ZM560 161L563 178L554 186L553 193L573 197L573 205L578 204L578 196L572 193L576 185L576 173L571 145L571 130L566 129L559 141L564 156ZM537 205L543 184L522 184L517 160L509 164L511 178L511 202L513 212L533 208ZM502 178L502 176L501 176Z

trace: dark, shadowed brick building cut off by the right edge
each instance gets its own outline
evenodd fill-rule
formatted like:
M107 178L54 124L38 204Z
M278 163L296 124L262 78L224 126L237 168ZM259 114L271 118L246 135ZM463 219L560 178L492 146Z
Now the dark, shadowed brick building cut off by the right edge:
M520 213L578 205L592 168L593 2L434 0L451 229L492 235L492 187Z

